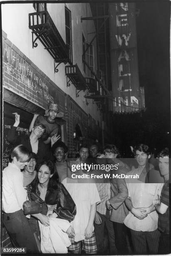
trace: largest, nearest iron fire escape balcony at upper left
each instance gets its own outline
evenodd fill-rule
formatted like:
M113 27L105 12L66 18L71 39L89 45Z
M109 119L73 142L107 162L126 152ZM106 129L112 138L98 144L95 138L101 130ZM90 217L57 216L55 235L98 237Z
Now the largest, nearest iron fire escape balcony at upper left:
M32 29L32 48L37 47L36 41L39 39L54 59L55 72L58 72L60 63L70 63L69 49L47 10L29 13L29 28ZM55 63L58 63L56 67Z

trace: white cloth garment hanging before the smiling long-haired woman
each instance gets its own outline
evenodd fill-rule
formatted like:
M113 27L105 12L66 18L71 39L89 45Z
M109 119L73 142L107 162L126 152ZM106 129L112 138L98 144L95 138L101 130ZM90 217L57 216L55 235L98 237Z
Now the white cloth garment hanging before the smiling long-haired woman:
M42 253L67 253L71 242L65 232L70 225L68 220L58 218L50 218L47 227L39 221Z

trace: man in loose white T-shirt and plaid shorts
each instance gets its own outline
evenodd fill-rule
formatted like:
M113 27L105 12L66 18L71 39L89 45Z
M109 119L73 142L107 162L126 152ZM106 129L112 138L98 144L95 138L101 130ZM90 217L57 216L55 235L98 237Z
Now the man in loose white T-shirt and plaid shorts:
M80 158L74 164L85 163L89 156L87 145L83 145L79 150ZM76 172L74 172L76 173ZM82 170L77 172L84 175ZM68 176L70 174L68 173ZM85 251L87 254L96 254L97 245L94 235L94 218L97 209L97 203L100 202L99 193L91 179L72 179L65 178L62 183L68 190L77 207L77 214L71 222L72 227L67 234L71 241L68 251L70 253L80 254Z

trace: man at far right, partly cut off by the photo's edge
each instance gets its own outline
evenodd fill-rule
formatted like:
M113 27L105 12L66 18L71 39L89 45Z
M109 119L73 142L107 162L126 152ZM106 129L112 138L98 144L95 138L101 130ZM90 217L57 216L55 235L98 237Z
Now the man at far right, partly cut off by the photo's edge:
M164 176L164 186L161 190L160 204L155 205L159 212L158 230L160 231L159 254L168 254L169 251L169 149L164 148L159 155L159 169Z

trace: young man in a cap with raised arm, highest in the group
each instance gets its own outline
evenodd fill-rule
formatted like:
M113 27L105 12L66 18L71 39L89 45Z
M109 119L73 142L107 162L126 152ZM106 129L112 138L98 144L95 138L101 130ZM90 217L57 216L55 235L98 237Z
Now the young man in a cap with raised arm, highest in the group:
M37 123L42 123L45 125L45 133L42 136L42 140L45 144L50 143L51 137L53 135L59 135L59 122L58 118L62 118L64 113L59 112L58 105L50 103L48 110L45 111L45 115L34 114L32 122L30 124L29 131L32 131L32 128L37 125Z

